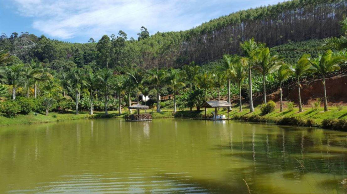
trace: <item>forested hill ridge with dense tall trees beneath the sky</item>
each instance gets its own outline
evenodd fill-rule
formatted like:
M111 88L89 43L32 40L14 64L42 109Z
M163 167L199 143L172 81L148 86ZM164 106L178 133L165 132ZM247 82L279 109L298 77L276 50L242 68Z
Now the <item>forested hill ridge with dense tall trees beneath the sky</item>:
M242 10L213 19L196 28L149 35L145 27L139 36L104 35L97 43L68 43L45 36L12 33L0 37L0 51L10 52L24 63L32 59L53 70L90 66L144 68L180 67L195 61L203 64L221 59L223 54L240 54L239 42L254 37L272 47L290 41L338 36L346 0L293 0L277 5Z

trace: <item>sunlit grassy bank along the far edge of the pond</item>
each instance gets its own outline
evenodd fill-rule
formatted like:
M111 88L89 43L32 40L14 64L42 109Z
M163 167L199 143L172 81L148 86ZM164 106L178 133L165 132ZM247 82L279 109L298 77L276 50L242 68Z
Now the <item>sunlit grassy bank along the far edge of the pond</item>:
M178 111L176 113L167 109L160 113L148 112L152 114L153 119L157 118L187 118L194 120L205 120L204 111ZM220 114L227 114L226 111L220 110ZM7 118L0 116L0 127L11 125L27 125L27 124L44 124L52 122L64 122L72 120L82 119L99 119L99 118L124 118L126 114L118 114L118 111L110 111L108 115L104 112L95 112L94 115L89 115L88 112L80 112L80 114L74 114L72 111L67 113L50 113L48 116L34 113L28 115L18 115L13 118ZM208 117L211 115L208 115ZM231 111L229 112L229 120L243 121L250 123L268 123L276 125L287 126L303 126L303 127L316 127L327 130L335 131L347 131L347 110L336 110L331 108L328 112L322 112L320 110L313 111L312 109L304 109L304 112L299 113L295 109L292 111L278 110L261 116L260 111L256 109L255 112L249 113L249 111Z

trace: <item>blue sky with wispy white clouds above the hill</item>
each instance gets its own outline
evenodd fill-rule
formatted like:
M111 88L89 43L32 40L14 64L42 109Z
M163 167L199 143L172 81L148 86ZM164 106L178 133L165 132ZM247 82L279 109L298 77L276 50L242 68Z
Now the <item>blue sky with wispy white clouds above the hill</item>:
M283 1L283 0L282 0ZM98 41L123 30L137 38L186 30L232 12L279 0L0 0L0 33L29 32L68 42Z

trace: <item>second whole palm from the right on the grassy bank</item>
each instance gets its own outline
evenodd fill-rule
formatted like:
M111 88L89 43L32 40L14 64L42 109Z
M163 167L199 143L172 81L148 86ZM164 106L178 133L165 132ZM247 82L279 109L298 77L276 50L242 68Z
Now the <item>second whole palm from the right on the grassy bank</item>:
M298 97L299 97L299 112L303 112L303 107L301 104L301 94L300 94L300 77L311 67L310 61L308 60L311 57L310 54L302 54L297 61L296 64L294 64L291 67L291 71L294 72L296 80L297 80L297 86L298 86Z

